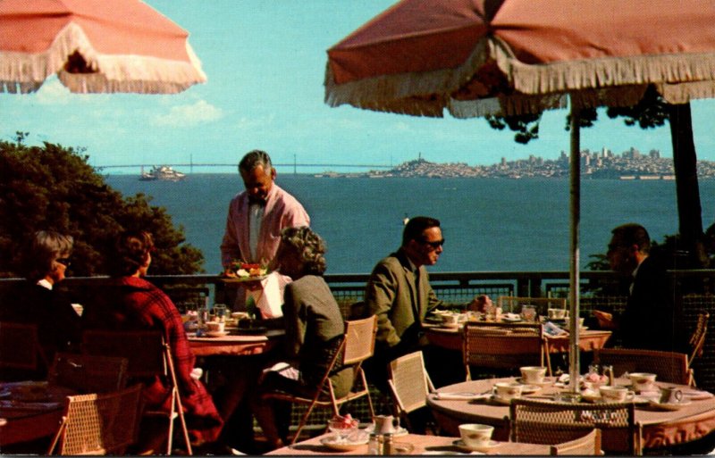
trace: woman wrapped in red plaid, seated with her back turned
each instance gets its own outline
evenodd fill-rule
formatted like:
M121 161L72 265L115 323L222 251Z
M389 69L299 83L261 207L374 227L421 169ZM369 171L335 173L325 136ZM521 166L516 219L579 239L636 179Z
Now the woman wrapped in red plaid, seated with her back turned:
M171 346L181 401L186 412L189 435L196 445L214 442L223 421L216 412L206 387L192 377L196 358L191 353L181 314L169 296L142 277L151 264L154 242L147 232L125 232L119 237L111 254L113 279L103 292L103 298L88 310L86 326L99 329L157 329ZM171 391L157 377L143 391L151 408L171 406Z

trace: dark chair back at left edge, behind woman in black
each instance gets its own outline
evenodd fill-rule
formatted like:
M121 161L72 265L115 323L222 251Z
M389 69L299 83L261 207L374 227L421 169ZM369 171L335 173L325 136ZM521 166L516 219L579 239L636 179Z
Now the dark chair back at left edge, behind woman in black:
M38 326L0 321L0 368L36 371L47 366Z

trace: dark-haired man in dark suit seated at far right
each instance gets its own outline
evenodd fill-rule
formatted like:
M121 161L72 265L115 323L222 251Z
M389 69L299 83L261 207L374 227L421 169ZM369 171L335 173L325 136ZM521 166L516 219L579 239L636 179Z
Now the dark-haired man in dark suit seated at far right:
M680 329L673 294L663 266L649 254L651 238L639 224L613 229L610 268L633 276L626 310L620 317L594 311L601 328L616 329L626 348L679 351Z

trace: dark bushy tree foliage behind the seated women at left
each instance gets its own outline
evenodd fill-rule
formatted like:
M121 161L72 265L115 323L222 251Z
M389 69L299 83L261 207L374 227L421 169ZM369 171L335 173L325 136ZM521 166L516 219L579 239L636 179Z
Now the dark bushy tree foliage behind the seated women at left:
M74 237L71 274L107 272L105 253L122 230L147 230L156 244L151 273L203 271L204 256L186 242L151 197L124 197L88 164L84 149L45 142L25 146L27 133L15 142L0 141L0 277L19 275L23 242L40 229Z

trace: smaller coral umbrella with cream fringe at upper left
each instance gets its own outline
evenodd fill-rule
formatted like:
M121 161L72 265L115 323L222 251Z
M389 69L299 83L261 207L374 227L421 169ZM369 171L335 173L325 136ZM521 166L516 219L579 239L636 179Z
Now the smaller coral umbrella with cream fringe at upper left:
M139 0L3 0L0 92L178 93L206 81L188 37Z

